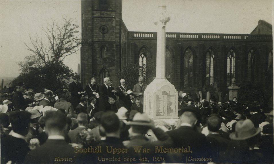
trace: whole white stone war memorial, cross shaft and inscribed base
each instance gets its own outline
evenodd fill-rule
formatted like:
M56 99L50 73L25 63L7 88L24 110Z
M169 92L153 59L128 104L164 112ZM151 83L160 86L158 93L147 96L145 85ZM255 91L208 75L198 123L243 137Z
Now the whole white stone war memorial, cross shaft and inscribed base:
M160 18L154 22L157 27L156 78L147 85L144 92L144 113L153 119L178 118L178 91L166 75L166 24L170 15L166 6L159 6Z

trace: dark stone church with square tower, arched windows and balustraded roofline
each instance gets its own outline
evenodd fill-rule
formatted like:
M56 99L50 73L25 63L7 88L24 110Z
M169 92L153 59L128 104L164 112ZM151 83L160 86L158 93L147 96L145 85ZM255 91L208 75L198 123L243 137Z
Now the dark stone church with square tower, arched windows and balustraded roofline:
M116 74L122 67L156 64L157 32L127 30L122 1L81 3L83 86L93 76L101 84L111 77L118 86ZM202 97L209 93L219 100L228 99L233 78L236 84L251 81L272 90L272 45L272 25L264 20L250 34L184 33L179 28L166 33L166 78L178 93L200 91Z

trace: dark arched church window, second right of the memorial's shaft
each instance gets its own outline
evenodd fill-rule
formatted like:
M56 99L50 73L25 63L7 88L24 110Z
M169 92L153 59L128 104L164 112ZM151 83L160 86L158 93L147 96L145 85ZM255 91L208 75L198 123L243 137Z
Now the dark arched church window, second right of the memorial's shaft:
M193 52L188 48L184 53L184 88L193 87Z

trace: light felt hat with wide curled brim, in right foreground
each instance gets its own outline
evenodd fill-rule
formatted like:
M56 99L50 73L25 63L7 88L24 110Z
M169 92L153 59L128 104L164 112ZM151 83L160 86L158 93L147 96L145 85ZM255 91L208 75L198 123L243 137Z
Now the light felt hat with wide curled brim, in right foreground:
M245 140L256 136L261 132L260 128L255 128L250 119L240 120L236 123L235 132L232 132L229 137L232 140Z

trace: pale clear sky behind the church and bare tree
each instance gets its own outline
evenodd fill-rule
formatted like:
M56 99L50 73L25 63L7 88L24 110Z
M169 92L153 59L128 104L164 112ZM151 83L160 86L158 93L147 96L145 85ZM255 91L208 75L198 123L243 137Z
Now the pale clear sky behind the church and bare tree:
M250 34L260 19L273 25L273 0L123 0L128 30L156 32L159 5L166 5L171 17L166 32ZM24 43L30 45L30 37L42 35L47 22L63 17L75 18L81 27L81 1L0 0L0 76L18 76L18 62L31 54ZM77 72L80 47L64 63Z

